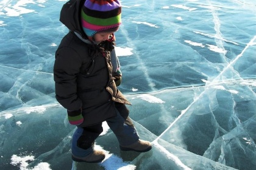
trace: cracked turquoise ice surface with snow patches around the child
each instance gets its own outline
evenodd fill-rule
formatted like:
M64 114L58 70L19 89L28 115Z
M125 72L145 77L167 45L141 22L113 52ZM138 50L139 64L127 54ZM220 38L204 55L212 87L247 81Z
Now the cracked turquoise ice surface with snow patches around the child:
M140 137L119 151L104 125L102 163L72 163L55 100L66 1L0 1L0 169L256 169L256 2L122 1L116 51Z

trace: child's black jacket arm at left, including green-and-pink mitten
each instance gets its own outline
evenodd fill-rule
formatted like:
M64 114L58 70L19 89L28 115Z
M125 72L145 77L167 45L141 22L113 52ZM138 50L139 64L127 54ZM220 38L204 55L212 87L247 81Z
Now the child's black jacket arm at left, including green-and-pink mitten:
M77 97L76 75L82 60L72 49L57 50L54 63L55 97L67 109L70 124L79 125L84 121L82 101Z

